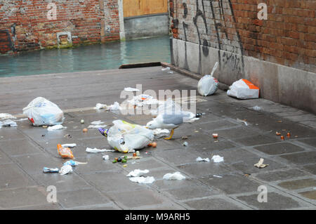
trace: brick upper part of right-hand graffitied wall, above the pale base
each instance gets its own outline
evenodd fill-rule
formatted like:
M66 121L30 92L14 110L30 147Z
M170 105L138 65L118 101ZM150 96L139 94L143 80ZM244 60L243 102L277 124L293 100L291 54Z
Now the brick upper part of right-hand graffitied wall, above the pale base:
M258 20L259 3L268 5L268 20ZM169 7L175 39L316 71L315 0L170 0Z

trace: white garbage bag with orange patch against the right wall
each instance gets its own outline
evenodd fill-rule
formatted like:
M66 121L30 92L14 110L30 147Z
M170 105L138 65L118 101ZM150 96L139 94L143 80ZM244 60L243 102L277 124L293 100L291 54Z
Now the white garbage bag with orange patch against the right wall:
M259 98L260 89L246 79L239 79L235 81L230 89L227 91L227 95L233 96L239 99L254 99Z

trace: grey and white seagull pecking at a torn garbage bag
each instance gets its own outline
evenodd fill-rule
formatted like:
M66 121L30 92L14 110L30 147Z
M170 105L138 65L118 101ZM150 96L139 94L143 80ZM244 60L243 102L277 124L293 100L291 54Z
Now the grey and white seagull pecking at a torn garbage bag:
M174 129L177 129L178 126L183 124L183 122L192 122L202 114L193 114L192 112L178 112L176 114L159 114L152 121L148 122L146 127L148 129L171 129L171 134L168 138L164 138L166 140L171 140Z

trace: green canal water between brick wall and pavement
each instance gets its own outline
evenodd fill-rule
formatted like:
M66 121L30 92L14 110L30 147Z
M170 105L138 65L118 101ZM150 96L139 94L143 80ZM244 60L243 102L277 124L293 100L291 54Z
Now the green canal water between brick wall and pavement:
M122 64L170 60L169 36L154 37L0 56L0 77L111 70Z

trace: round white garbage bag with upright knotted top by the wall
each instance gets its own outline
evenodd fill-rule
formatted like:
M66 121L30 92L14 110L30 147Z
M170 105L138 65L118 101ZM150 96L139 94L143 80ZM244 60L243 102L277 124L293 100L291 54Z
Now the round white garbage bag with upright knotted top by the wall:
M213 77L214 72L218 68L218 62L215 63L211 74L206 74L202 79L199 79L197 91L199 94L206 96L214 94L218 89L218 80Z

